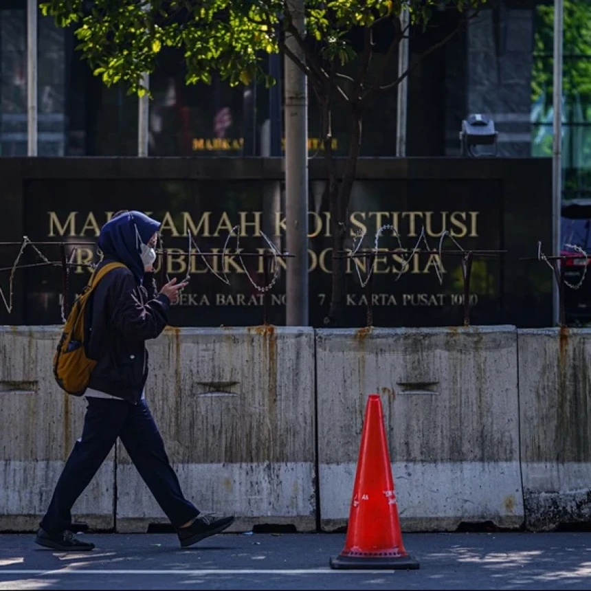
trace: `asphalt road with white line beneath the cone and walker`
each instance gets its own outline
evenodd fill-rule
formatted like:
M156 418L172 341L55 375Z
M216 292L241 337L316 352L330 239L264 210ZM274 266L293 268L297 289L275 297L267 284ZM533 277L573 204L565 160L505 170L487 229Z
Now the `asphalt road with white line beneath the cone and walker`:
M0 535L0 590L590 589L591 533L405 534L420 570L331 570L343 534L222 534L181 549L175 535L84 535L58 553Z

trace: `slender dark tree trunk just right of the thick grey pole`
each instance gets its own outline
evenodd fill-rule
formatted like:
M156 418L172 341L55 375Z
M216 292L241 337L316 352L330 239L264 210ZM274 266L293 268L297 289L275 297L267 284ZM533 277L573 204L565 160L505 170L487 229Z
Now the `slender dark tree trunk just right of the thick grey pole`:
M353 109L353 131L349 144L348 159L340 185L331 184L329 199L331 200L331 226L333 233L333 289L328 317L324 320L327 326L344 326L346 310L346 259L338 258L345 249L348 234L348 208L357 171L357 160L361 149L361 115Z

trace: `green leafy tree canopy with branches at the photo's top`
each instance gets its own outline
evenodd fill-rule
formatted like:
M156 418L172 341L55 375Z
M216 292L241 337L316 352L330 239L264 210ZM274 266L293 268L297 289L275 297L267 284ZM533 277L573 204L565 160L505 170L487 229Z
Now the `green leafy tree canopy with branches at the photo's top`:
M96 76L107 85L124 82L130 93L140 96L142 75L157 67L163 47L183 50L187 65L186 83L210 83L217 72L230 85L249 84L252 80L272 85L263 65L268 54L283 53L293 58L313 83L330 85L341 100L348 97L336 76L326 70L346 67L357 54L350 32L363 27L368 36L382 21L392 21L400 41L405 31L398 16L407 10L411 25L426 26L434 10L452 6L464 10L477 0L306 0L306 36L298 32L293 3L289 0L49 0L41 4L43 14L55 17L62 27L74 25L80 41L78 49L88 60ZM291 52L285 42L291 34L305 45L306 60ZM312 43L310 43L311 41ZM392 43L390 57L398 43ZM360 56L368 60L368 56ZM388 60L386 60L386 66ZM350 78L342 74L343 79ZM383 74L364 86L365 93L354 99L366 100L368 93L387 90L399 80L387 80Z

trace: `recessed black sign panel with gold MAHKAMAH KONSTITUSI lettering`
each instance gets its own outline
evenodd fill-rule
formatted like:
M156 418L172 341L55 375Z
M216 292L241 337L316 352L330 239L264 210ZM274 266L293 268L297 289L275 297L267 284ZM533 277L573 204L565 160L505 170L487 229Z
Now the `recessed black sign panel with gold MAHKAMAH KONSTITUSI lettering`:
M177 181L177 180L85 180L44 179L29 181L25 192L27 236L44 241L85 241L74 254L78 266L69 277L72 301L87 281L88 263L97 260L96 241L100 227L122 209L141 210L161 221L161 237L167 252L159 258L158 277L179 279L190 275L190 285L172 311L171 324L178 326L245 326L263 320L263 294L253 285L263 285L263 232L285 252L285 201L276 181ZM322 326L331 298L333 245L331 216L324 183L314 181L309 201L308 267L311 324ZM493 181L396 180L357 181L348 212L349 240L363 233L362 247L377 243L372 292L375 326L441 326L460 324L463 280L458 256L446 249L502 248L500 190ZM244 258L247 272L236 256L236 237L230 238L227 256L223 247L232 228L238 226L242 252L259 256ZM390 229L393 227L399 240ZM188 231L208 264L189 258ZM448 232L439 254L441 236ZM434 253L414 254L405 260L388 250L412 249L421 235ZM425 247L425 242L421 243ZM54 247L47 247L52 249ZM71 252L71 247L69 248ZM54 248L52 257L58 258ZM366 262L357 259L361 277ZM162 265L166 264L166 269ZM280 277L271 290L269 320L285 322L285 265L278 260ZM346 260L346 318L348 326L363 326L368 292L359 284L356 263ZM229 285L216 277L227 276ZM271 274L272 276L272 274ZM500 263L478 259L472 271L470 303L473 323L500 321L502 293ZM57 268L27 271L27 322L59 322L63 283Z

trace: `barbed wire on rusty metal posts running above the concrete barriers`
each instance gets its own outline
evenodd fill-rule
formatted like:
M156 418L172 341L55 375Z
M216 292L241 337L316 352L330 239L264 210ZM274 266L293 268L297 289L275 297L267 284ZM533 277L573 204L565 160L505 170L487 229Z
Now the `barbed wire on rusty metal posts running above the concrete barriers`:
M206 269L210 274L212 274L214 277L220 280L224 285L230 286L230 278L228 277L229 267L227 265L227 257L236 257L238 259L239 264L241 265L241 268L245 273L245 276L249 280L249 283L252 285L252 287L254 287L254 289L256 289L256 291L258 291L258 293L263 295L263 324L269 324L270 293L272 289L276 287L276 284L280 277L279 260L282 260L284 261L284 264L287 264L287 259L293 258L293 255L289 254L288 252L280 252L276 245L274 245L274 243L269 239L269 237L263 232L259 232L259 236L255 236L255 238L263 238L263 241L266 244L266 247L264 249L258 249L257 252L243 251L240 246L240 230L240 225L235 225L234 227L232 227L232 230L230 230L230 232L227 234L225 238L223 249L221 250L221 252L217 249L210 251L201 250L196 241L195 236L193 236L190 230L188 230L185 237L187 241L187 249L180 251L175 250L175 254L177 256L180 255L187 257L187 271L186 276L185 278L183 278L183 280L190 280L193 258L199 257L203 261ZM388 231L392 233L392 237L395 238L395 240L397 241L397 247L394 249L380 249L380 239L382 238L384 232ZM235 251L232 254L229 254L232 237L236 238ZM507 253L506 250L500 249L464 249L462 245L458 243L456 238L454 238L454 236L451 235L449 230L445 230L441 234L438 246L436 248L432 248L429 242L427 241L425 227L421 228L419 237L416 239L416 242L410 248L403 247L402 239L399 232L393 225L390 224L383 225L377 230L373 241L373 247L370 249L361 248L361 245L363 244L365 237L366 232L357 232L357 234L353 236L352 247L341 252L333 253L333 258L349 259L353 262L357 278L359 279L359 285L361 286L361 289L365 291L364 295L366 296L367 326L373 326L373 280L376 272L377 258L380 254L395 254L401 257L402 263L400 268L396 271L393 271L394 282L400 280L400 278L409 270L411 261L417 254L434 256L434 267L440 285L443 285L444 257L459 257L462 269L463 282L463 324L464 326L469 326L471 322L471 274L474 260L476 258L499 258ZM451 241L452 245L455 248L444 249L443 245L446 239L447 241ZM23 236L23 241L21 242L0 242L0 247L19 247L18 253L14 258L14 262L12 263L12 265L0 268L0 271L8 271L10 273L8 278L8 293L0 285L0 300L9 314L12 313L12 310L14 309L14 280L16 276L16 271L20 269L58 267L60 268L62 273L63 291L60 299L60 316L62 322L65 322L66 317L69 313L69 280L71 269L74 267L88 267L90 270L93 270L100 263L100 259L96 262L91 263L82 263L80 261L76 261L76 253L79 247L91 247L93 249L96 248L96 243L89 241L32 241L28 236ZM58 260L50 260L49 256L46 256L42 252L42 247L59 247L60 258ZM71 248L71 252L69 253L69 255L67 254L67 248ZM553 270L553 275L559 287L559 322L561 326L566 326L566 311L564 302L565 287L575 290L580 289L586 278L589 263L589 254L581 247L577 245L566 244L565 248L572 250L574 254L568 253L561 254L560 256L546 256L542 251L542 242L538 242L537 256L520 258L520 260L542 261L546 263L546 265L548 265L550 269ZM21 260L25 255L27 249L30 249L30 251L33 252L36 258L38 258L38 261L35 263L19 264L21 263ZM100 252L98 254L100 254ZM168 281L170 280L168 276L168 258L170 256L170 253L168 252L168 249L164 247L164 241L161 234L158 235L157 256L160 257L161 280L163 282ZM254 278L252 277L252 273L248 270L247 265L245 264L244 258L251 257L263 257L262 285L259 285L258 282L254 280ZM214 265L212 266L208 258L211 258L212 260L217 258L220 264L216 265L214 263ZM576 284L572 284L571 282L568 282L566 280L566 261L568 259L584 259L584 268L581 273L579 282L577 282ZM219 269L221 269L221 271L217 271L214 268L216 266ZM361 271L364 271L365 277L362 276Z

